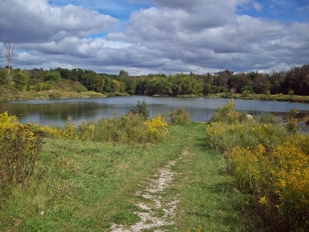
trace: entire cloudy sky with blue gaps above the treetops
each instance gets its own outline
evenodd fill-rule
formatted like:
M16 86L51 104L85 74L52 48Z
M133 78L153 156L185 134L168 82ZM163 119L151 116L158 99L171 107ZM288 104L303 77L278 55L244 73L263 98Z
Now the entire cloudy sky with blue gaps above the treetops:
M27 70L287 71L309 64L309 0L1 0L5 41Z

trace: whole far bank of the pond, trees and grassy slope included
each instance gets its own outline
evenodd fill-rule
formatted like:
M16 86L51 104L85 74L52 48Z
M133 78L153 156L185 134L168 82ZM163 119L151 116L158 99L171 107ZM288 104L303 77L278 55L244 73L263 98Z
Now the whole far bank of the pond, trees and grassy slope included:
M96 73L92 70L55 68L20 70L0 68L0 100L49 99L61 97L106 97L158 95L220 97L266 101L309 102L309 65L273 74L217 75L194 73L129 76Z

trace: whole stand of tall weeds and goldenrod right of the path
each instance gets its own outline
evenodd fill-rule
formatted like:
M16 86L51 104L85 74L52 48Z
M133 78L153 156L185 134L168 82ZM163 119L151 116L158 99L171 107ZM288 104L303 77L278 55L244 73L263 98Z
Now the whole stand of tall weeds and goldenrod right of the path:
M292 113L297 112L291 109L285 127L262 115L242 123L211 122L205 132L206 143L228 160L235 191L251 196L273 231L309 229L309 136L297 134Z

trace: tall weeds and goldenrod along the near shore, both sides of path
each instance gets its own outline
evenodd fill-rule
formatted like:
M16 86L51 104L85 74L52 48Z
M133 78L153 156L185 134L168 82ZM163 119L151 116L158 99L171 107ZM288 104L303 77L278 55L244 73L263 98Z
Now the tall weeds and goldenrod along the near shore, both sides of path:
M0 114L0 209L15 191L33 188L48 172L48 166L37 170L35 165L46 141L112 144L116 149L121 144L132 148L142 145L145 149L163 143L170 126L185 128L192 124L183 107L155 118L149 115L145 99L132 105L127 114L81 122L77 127L70 116L63 127L43 127L21 124L7 112ZM282 117L283 126L269 114L249 120L244 113L234 110L231 99L224 107L218 106L205 126L203 143L224 157L225 175L241 213L255 215L252 221L256 225L262 223L265 230L309 228L309 136L298 134L297 122L303 119L296 117L297 110L291 109ZM50 155L53 154L51 151ZM61 157L66 160L65 152ZM64 160L59 162L68 162ZM74 165L73 173L80 165ZM57 194L62 194L59 191Z

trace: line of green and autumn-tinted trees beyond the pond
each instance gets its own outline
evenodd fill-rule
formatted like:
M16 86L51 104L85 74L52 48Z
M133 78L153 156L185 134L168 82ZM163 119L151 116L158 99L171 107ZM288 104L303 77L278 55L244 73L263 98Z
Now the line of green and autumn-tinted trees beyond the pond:
M61 79L79 81L90 91L109 93L120 92L144 95L209 95L216 93L241 94L295 94L309 95L309 64L294 67L289 71L273 71L272 75L251 72L232 75L225 70L218 76L198 75L194 73L176 75L149 74L130 76L127 71L121 70L118 75L96 73L92 70L75 68L54 68L43 70L20 71L15 69L12 80L15 87L22 90L28 84L28 79L37 79L42 82L61 82ZM0 84L8 84L7 71L0 70ZM33 81L32 81L33 83Z

